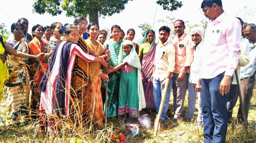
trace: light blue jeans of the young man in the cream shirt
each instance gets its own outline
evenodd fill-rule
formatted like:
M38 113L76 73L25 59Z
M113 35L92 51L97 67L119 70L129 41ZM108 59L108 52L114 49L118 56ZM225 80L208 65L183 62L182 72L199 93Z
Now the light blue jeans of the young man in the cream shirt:
M165 96L165 103L163 105L163 110L162 110L162 114L161 114L161 119L163 121L166 121L166 112L169 106L169 100L170 100L170 94L171 94L171 89L172 89L172 80L173 78L170 77L170 81L168 84L168 89L166 92L166 96ZM163 83L163 80L159 80L159 79L155 79L153 80L153 97L154 97L154 101L155 101L155 110L157 111L157 115L158 115L158 111L159 111L159 107L161 104L161 99L163 96L163 92L164 92L164 88L161 88L161 85Z

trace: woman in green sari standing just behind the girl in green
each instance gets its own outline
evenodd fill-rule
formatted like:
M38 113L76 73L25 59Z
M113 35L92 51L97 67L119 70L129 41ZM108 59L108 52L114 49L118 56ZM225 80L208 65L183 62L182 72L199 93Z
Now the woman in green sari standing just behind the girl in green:
M104 42L104 48L110 50L110 60L108 61L108 66L117 66L117 59L121 47L120 41L121 36L121 28L118 25L113 25L111 27L111 35L113 38L108 39ZM118 107L118 96L119 96L119 82L120 82L120 71L115 71L113 73L108 74L108 107L107 107L107 117L114 117L117 115L117 107ZM102 82L104 83L104 82ZM105 84L105 83L104 83ZM103 85L105 88L105 85Z

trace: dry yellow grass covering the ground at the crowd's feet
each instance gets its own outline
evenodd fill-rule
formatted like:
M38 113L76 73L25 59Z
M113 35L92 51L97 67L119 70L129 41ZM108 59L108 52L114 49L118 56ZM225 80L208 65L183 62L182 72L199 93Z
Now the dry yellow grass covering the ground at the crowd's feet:
M3 91L3 101L0 106L1 118L4 116L4 103L7 95L6 90ZM251 99L251 107L248 116L248 134L245 134L244 126L237 124L236 115L239 107L239 102L236 104L233 111L233 122L228 127L228 133L226 137L227 143L255 143L256 142L256 89L254 89L253 97ZM197 105L196 105L197 106ZM172 97L169 108L172 112ZM184 113L187 111L187 98L184 104ZM197 108L195 114L197 115ZM155 112L148 110L149 118L154 124ZM133 123L139 124L137 118L133 119ZM140 132L145 131L146 137L141 137L140 134L133 137L130 130L125 128L123 121L120 117L108 118L107 125L104 129L97 130L93 127L90 128L75 128L72 125L67 124L65 121L59 121L59 125L62 126L61 131L47 132L41 134L37 120L30 120L25 125L0 125L0 143L102 143L107 141L110 143L110 137L108 133L114 129L119 130L126 137L126 143L198 143L204 140L203 128L197 125L195 120L192 122L175 123L171 119L164 122L163 126L167 127L164 131L159 131L158 136L154 137L154 130L148 130L147 128L140 127Z

